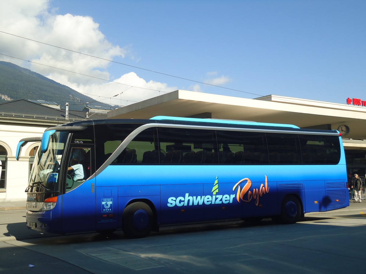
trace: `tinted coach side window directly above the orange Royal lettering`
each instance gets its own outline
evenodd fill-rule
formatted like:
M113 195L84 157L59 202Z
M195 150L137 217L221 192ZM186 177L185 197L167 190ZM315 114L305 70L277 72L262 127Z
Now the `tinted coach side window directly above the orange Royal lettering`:
M265 133L218 131L220 163L268 164Z

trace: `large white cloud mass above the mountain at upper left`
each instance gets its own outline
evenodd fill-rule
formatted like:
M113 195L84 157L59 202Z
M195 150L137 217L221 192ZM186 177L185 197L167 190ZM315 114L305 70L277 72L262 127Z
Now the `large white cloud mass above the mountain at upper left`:
M33 63L3 55L0 55L0 60L12 62L26 68L29 66L31 70L74 88L76 91L96 96L110 97L120 94L128 88L126 85L96 78L134 86L123 92L122 95L116 96L117 98L114 98L114 100L103 100L102 102L105 103L126 105L126 100L130 101L128 103L130 104L132 101L145 100L178 89L177 87L168 87L166 83L153 80L146 81L134 72L126 73L119 79L110 79L108 72L110 62L107 60L125 58L126 56L134 60L131 46L112 45L99 30L99 24L94 22L93 18L71 14L56 14L57 9L53 8L51 10L49 3L49 0L12 0L4 1L1 4L1 31L57 47L0 33L1 53L23 60L30 60Z

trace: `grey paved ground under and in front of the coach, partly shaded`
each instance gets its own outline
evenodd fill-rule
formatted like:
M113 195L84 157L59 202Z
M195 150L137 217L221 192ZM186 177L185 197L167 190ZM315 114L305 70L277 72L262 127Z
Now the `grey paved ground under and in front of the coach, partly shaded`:
M122 231L7 237L0 241L0 273L341 274L352 269L352 274L365 274L365 205L306 214L290 225L265 219L260 225L232 221L164 227L142 239L126 239ZM0 216L15 232L12 225L24 228L16 219L24 213L10 210ZM350 268L352 261L359 263Z

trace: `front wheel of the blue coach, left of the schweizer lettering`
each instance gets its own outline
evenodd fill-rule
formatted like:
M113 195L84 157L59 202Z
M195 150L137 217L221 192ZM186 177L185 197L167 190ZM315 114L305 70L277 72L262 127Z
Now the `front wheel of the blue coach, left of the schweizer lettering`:
M123 233L129 238L146 237L153 227L153 218L153 212L146 203L131 203L122 214Z

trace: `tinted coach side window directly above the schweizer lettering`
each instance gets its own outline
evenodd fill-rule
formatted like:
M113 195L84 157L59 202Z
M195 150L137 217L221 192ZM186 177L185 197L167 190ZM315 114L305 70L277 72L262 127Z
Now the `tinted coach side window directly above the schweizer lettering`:
M213 130L158 128L165 164L213 164L219 162Z

